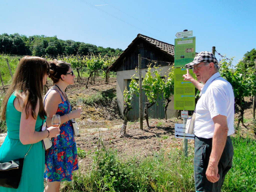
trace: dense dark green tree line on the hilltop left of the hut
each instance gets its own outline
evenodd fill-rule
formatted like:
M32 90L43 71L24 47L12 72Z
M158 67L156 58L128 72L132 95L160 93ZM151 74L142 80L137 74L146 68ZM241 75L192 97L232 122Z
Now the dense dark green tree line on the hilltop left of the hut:
M9 55L108 55L118 56L123 52L119 48L104 48L89 43L61 40L57 36L19 35L3 33L0 35L0 53Z

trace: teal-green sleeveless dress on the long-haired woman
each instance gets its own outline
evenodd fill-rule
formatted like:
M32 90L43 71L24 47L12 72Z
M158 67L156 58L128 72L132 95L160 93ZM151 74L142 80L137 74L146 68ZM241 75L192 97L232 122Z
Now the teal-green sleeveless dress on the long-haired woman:
M31 144L23 145L19 140L19 125L21 112L13 106L15 95L12 94L6 106L7 136L0 147L0 162L9 162L13 159L24 158ZM42 120L37 116L35 131L40 131ZM1 192L42 192L44 191L44 163L45 151L42 141L34 143L24 159L22 175L18 189L0 187Z

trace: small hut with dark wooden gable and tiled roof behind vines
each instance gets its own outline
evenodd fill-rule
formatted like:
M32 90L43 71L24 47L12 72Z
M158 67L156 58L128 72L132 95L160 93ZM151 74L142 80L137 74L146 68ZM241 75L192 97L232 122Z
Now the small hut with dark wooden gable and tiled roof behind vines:
M116 71L116 95L118 106L123 113L123 92L125 87L129 89L131 76L135 74L135 68L138 67L138 54L141 54L142 61L142 78L145 76L147 66L152 63L151 60L157 61L153 65L161 66L161 75L167 75L170 63L174 62L174 45L168 44L154 38L138 34L124 52L109 67L110 70ZM161 93L160 93L161 94ZM149 110L151 118L164 119L163 96L161 95L157 104ZM145 94L143 93L143 109L145 103ZM128 120L137 120L139 118L139 99L134 97L132 110L129 112ZM167 118L175 116L173 99L167 108Z

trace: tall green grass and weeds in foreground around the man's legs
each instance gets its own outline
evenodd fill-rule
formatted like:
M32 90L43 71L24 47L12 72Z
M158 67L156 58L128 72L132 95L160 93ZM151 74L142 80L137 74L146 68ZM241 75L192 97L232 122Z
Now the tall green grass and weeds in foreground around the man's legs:
M226 176L222 192L256 190L255 141L232 138L233 167ZM193 153L188 157L177 148L160 150L144 158L119 156L98 140L92 154L91 169L75 172L72 182L64 182L62 191L158 191L194 190Z

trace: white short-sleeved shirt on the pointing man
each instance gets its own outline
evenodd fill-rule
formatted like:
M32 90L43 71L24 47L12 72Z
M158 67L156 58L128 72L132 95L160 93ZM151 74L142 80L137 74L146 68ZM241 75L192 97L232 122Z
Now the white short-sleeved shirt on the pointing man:
M234 93L231 84L217 72L205 83L200 95L196 104L194 134L197 137L212 138L212 118L219 114L227 117L228 135L233 134Z

